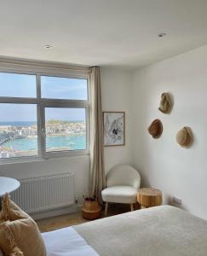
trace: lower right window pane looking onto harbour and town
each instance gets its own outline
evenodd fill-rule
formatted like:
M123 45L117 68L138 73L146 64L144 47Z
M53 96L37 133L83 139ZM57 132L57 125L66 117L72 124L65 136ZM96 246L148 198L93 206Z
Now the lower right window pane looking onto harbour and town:
M46 152L86 149L84 108L45 108Z

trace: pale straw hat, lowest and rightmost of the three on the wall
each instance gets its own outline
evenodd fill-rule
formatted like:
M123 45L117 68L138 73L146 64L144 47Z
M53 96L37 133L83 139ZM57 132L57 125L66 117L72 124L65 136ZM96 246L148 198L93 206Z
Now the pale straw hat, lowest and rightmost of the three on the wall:
M176 141L182 148L189 148L193 143L193 134L190 127L183 127L178 131Z

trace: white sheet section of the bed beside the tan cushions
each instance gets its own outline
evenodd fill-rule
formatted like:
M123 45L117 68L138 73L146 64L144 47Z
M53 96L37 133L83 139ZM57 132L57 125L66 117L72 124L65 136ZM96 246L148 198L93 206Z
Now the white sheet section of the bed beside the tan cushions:
M97 256L95 250L72 227L42 233L47 256Z

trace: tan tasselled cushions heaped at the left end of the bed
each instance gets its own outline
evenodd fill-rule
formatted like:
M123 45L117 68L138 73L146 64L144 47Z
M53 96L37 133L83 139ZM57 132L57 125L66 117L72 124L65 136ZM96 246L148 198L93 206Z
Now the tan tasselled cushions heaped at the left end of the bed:
M9 196L3 198L0 218L0 247L6 256L46 255L37 224Z

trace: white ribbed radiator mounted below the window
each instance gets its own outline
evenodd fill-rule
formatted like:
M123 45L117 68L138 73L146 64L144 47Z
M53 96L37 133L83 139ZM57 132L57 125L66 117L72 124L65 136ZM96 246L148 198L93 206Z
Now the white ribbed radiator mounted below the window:
M13 201L28 213L44 212L74 204L74 173L20 180Z

